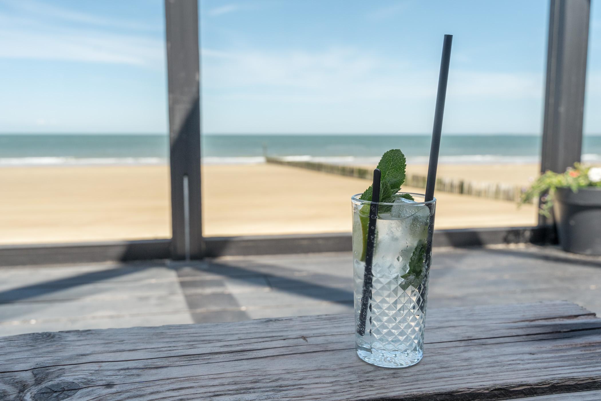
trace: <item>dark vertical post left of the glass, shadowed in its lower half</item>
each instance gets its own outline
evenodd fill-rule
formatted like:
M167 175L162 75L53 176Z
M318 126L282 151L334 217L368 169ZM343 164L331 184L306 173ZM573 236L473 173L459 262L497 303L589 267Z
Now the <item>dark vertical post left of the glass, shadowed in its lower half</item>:
M172 259L203 255L198 1L165 0Z

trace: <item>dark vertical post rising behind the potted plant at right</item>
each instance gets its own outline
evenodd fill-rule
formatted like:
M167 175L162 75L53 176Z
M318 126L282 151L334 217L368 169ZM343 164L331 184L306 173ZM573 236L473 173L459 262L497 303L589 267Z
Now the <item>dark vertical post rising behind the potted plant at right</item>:
M590 7L590 0L551 0L542 173L563 172L581 158Z

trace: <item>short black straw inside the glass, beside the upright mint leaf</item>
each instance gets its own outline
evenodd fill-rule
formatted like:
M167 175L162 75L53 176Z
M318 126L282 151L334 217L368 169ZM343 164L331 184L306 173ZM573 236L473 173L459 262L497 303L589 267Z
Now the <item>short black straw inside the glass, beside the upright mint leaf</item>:
M367 319L367 304L371 299L371 263L374 259L374 241L376 240L377 203L380 201L380 176L379 168L374 170L374 181L371 185L370 222L367 227L367 247L365 249L365 273L363 275L363 293L361 295L361 311L357 332L365 334L365 320Z

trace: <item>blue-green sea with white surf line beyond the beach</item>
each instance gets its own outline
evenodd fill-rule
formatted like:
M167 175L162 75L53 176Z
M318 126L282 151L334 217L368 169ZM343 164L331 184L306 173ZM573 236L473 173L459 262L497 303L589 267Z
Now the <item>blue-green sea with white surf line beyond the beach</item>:
M455 164L527 163L540 159L541 135L443 135L439 162ZM371 164L391 148L408 162L427 162L427 134L204 134L204 164L264 162L264 156ZM601 135L585 135L582 159L601 162ZM0 167L22 165L166 164L168 135L158 134L0 134Z

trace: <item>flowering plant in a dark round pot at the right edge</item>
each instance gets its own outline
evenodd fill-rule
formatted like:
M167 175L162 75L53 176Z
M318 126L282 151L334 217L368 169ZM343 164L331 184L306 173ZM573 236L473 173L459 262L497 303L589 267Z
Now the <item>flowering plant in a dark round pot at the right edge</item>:
M540 196L540 213L553 212L564 251L601 255L601 167L576 163L565 173L547 171L522 194L521 203Z

